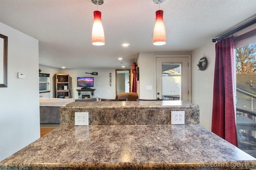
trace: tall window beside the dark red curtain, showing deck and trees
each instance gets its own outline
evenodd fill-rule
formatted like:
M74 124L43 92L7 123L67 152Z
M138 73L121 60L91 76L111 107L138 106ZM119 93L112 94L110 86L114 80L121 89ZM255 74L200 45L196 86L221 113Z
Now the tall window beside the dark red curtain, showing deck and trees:
M235 55L238 148L256 157L256 42L236 46Z

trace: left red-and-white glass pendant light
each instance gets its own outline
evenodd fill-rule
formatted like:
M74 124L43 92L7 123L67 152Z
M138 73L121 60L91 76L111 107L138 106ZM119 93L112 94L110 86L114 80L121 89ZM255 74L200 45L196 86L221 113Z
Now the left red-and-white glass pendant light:
M97 11L94 11L94 22L92 26L92 45L104 45L105 36L101 22L101 12L98 11L98 5L104 3L104 0L92 0L92 3L97 5Z

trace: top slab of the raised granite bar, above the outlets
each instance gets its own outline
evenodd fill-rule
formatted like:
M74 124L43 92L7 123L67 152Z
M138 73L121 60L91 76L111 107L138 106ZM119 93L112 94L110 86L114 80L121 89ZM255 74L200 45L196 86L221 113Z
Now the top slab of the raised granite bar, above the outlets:
M181 100L164 100L164 101L118 101L118 102L72 102L62 109L68 108L94 108L98 110L102 109L166 109L171 107L172 109L199 109L198 105L194 105L190 102Z

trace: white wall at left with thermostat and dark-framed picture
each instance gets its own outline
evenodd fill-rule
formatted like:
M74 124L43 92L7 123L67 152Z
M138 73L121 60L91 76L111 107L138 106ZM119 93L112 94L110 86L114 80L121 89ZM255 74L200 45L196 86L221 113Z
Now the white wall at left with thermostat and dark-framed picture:
M0 22L8 36L7 88L0 88L0 161L40 138L38 40ZM18 79L17 72L26 73Z

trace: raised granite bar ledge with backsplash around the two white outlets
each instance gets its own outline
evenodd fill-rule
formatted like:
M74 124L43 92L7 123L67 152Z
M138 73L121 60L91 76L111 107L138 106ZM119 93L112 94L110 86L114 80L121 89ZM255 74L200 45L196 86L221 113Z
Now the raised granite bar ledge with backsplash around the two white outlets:
M60 107L60 124L74 125L75 112L89 112L89 125L166 125L170 111L185 111L185 124L199 123L199 106L184 101L73 102Z

